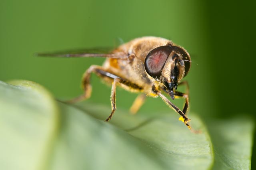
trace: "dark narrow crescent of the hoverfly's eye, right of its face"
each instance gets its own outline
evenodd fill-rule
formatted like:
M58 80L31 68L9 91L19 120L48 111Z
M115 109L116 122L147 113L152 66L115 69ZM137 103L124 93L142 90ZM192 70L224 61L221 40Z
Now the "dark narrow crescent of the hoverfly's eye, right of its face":
M177 54L180 54L182 56L182 60L184 61L184 65L185 65L185 75L184 75L184 77L185 77L188 74L188 72L190 70L190 66L191 66L190 55L182 47L172 46L172 49L174 52L176 52Z

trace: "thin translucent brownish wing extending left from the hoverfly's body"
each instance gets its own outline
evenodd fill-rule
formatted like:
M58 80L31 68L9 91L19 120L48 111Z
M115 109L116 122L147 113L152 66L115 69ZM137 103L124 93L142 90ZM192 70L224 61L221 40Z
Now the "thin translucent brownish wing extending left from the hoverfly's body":
M124 52L112 52L112 48L89 48L77 50L65 50L59 52L36 53L40 57L104 57L104 58L125 58L128 54Z

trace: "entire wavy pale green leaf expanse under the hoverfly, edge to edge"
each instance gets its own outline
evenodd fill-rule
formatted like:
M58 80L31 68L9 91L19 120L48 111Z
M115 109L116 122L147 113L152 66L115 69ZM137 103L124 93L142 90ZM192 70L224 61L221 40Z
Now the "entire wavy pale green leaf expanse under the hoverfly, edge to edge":
M104 122L110 106L68 105L36 83L11 83L0 82L0 169L250 169L253 122L246 118L211 120L211 136L193 113L192 127L200 134L174 112L118 109Z

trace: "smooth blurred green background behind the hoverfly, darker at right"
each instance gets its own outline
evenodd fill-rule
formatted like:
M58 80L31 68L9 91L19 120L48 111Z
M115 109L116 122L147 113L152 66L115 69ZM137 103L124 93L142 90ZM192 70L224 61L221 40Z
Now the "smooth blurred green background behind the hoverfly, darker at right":
M191 112L204 119L236 114L255 118L255 8L255 1L246 0L1 0L0 80L32 80L56 98L69 99L82 94L83 72L104 59L37 58L33 53L160 36L191 55L192 68L185 78ZM110 87L96 76L92 86L89 100L110 105ZM128 109L135 97L118 90L117 107ZM160 98L149 98L140 112L154 110L170 109Z

